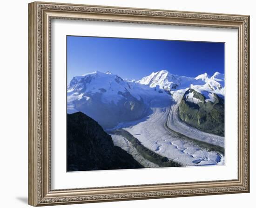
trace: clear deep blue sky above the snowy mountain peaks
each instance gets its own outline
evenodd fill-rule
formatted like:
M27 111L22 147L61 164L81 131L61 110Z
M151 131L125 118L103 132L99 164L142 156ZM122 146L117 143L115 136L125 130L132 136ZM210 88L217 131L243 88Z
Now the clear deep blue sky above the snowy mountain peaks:
M67 82L96 70L138 80L163 69L191 77L224 73L224 43L67 36Z

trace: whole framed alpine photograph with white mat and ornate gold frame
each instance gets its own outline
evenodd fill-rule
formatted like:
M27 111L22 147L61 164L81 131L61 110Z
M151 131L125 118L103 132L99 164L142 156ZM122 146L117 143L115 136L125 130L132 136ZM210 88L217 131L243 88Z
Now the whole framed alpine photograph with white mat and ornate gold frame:
M30 205L249 192L249 16L33 2L28 27Z

